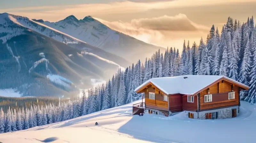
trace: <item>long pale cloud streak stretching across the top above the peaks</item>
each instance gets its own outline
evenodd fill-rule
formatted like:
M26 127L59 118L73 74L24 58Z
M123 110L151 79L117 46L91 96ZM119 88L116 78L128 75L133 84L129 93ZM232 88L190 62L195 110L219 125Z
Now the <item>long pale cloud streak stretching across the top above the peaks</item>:
M128 14L143 12L156 9L186 8L196 6L207 6L216 4L240 4L255 2L255 0L131 0L112 3L97 4L77 4L59 6L37 6L23 7L14 9L1 9L1 12L11 12L12 14L27 16L36 19L56 21L63 19L67 15L75 15L83 18L85 15L109 15L109 14ZM33 12L32 12L33 11Z

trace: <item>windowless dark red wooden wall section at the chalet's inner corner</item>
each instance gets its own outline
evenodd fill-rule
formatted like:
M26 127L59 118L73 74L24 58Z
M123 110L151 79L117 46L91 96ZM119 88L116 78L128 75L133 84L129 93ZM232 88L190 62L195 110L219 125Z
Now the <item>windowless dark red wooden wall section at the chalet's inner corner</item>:
M169 95L169 110L172 112L182 111L182 95Z

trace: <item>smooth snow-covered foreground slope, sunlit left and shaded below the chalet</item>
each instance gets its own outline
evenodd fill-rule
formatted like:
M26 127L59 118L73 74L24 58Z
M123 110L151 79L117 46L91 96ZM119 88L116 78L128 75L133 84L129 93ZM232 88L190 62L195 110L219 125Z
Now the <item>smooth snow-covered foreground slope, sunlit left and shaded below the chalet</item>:
M255 143L256 106L241 101L236 118L197 120L186 112L132 116L132 104L102 110L68 121L0 134L3 143L157 142ZM99 126L94 126L95 122Z

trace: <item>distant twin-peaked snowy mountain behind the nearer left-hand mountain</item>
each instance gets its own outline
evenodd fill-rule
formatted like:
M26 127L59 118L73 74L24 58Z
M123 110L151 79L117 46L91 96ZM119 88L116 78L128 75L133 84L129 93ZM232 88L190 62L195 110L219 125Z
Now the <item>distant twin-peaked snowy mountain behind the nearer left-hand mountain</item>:
M161 52L165 51L162 47L145 43L129 35L112 30L91 16L86 16L84 19L78 20L75 16L71 15L58 22L43 21L42 19L35 21L50 26L92 46L124 57L124 59L131 63L136 63L139 59L151 57L158 49Z

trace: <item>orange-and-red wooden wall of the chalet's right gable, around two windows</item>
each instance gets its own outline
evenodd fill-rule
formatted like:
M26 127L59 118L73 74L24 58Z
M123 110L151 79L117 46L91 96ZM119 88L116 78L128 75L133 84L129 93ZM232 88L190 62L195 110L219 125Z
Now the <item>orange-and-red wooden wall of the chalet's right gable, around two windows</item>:
M233 85L235 99L228 100L228 93L232 92L231 86L232 84L227 81L220 81L209 87L210 94L212 94L212 102L204 102L204 95L208 94L207 89L200 92L200 110L239 105L239 87L236 85Z

